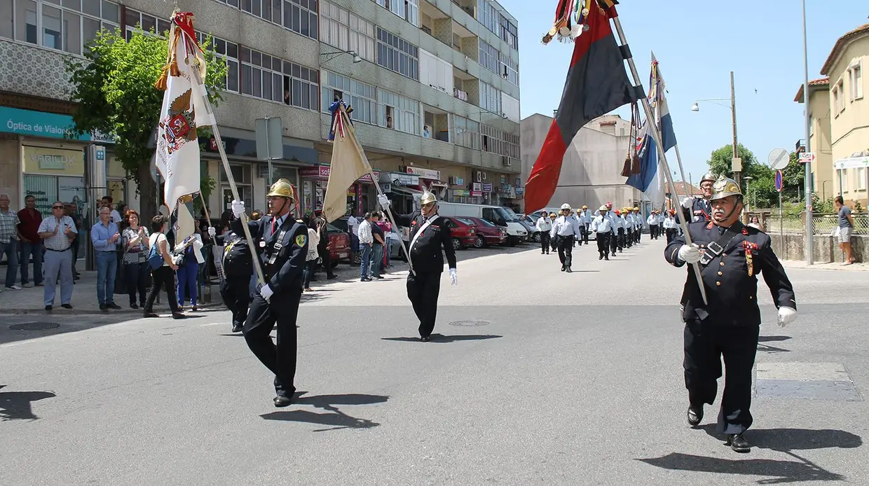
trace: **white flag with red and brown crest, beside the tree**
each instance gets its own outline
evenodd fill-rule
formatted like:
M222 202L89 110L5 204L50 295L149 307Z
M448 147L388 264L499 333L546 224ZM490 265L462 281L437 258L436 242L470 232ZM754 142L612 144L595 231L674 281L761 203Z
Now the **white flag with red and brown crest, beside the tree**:
M193 14L178 12L172 19L169 35L169 62L158 88L165 89L163 108L157 127L156 168L163 174L163 197L169 211L175 213L201 190L199 141L197 127L214 123L205 107L205 60L196 43ZM164 82L164 86L163 86ZM176 240L189 236L176 227Z

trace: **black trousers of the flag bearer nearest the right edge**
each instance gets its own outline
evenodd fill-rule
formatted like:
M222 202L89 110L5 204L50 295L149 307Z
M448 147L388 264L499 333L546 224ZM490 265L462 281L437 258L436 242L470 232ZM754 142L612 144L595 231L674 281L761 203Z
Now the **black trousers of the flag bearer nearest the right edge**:
M724 356L726 378L717 430L741 434L751 427L752 368L758 325L713 325L688 320L685 325L685 387L694 405L713 404Z

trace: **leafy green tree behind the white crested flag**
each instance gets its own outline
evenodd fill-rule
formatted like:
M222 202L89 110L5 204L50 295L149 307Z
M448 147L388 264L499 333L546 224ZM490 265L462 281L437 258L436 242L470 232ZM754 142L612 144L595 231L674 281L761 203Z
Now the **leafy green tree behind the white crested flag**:
M210 36L203 46L211 46ZM130 179L138 186L142 213L156 213L156 184L151 179L148 148L150 135L160 118L163 91L154 83L163 72L169 43L165 36L134 32L129 41L121 30L103 30L90 43L84 60L66 63L76 102L72 114L74 135L99 130L115 136L115 156ZM220 90L226 79L226 62L204 49L208 71L205 86L212 105L222 100ZM199 135L207 136L200 129ZM210 178L209 178L210 180ZM202 188L213 188L213 181L202 181ZM203 194L207 195L207 194Z

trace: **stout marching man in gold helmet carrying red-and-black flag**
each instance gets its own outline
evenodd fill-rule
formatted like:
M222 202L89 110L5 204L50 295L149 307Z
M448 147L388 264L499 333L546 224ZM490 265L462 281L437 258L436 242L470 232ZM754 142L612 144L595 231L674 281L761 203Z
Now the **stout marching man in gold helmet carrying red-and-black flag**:
M685 321L685 386L688 424L703 419L703 404L715 400L725 363L725 388L718 416L720 433L737 452L750 446L743 433L752 425L752 368L760 331L757 274L763 275L779 309L779 325L797 318L793 286L773 253L766 233L740 223L742 192L732 179L721 177L713 187L712 220L688 225L693 245L673 239L664 257L673 266L700 262L708 304L703 303L692 266L682 292Z

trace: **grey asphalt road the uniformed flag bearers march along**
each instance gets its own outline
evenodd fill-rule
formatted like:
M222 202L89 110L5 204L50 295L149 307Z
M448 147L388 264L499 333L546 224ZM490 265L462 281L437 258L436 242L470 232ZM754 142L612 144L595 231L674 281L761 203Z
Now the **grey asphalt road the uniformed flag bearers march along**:
M0 484L869 483L866 273L791 271L784 330L761 290L740 455L717 406L685 424L686 274L661 241L609 262L583 246L572 274L528 248L460 252L428 344L401 275L317 282L286 409L228 312L47 331L3 316Z

